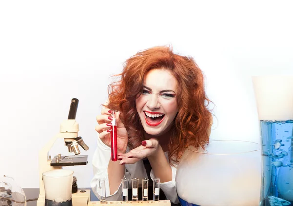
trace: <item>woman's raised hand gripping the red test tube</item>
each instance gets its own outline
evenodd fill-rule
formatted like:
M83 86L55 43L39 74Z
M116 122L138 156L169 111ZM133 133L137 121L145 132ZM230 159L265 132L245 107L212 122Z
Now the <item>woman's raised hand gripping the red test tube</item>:
M98 125L95 130L99 133L99 138L102 142L111 147L111 110L103 108L101 115L97 116ZM128 133L119 118L120 112L115 113L116 125L117 125L117 150L118 152L125 152L128 144Z

